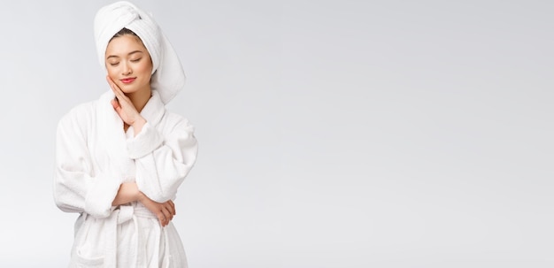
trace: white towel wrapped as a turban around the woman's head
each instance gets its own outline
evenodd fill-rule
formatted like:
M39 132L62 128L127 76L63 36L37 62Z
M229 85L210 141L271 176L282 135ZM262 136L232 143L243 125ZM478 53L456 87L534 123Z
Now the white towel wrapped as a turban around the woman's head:
M158 23L150 14L126 1L109 4L96 12L96 51L100 65L105 68L105 52L108 42L122 28L138 35L152 58L150 86L157 90L162 102L169 103L185 85L185 73L179 57L167 40Z

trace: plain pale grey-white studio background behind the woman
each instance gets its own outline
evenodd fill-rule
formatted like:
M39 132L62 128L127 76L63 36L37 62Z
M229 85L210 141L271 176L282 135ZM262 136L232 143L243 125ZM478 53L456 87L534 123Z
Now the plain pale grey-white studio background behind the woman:
M362 2L135 1L189 76L189 266L554 266L554 3ZM109 3L0 8L2 267L68 262L55 131Z

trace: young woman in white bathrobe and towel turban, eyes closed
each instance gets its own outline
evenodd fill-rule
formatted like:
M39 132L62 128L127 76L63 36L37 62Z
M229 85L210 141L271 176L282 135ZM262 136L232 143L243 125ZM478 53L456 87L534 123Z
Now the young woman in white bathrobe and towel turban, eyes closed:
M71 267L187 267L173 198L196 161L193 126L165 110L185 82L150 15L118 2L96 13L110 90L58 123L54 196L75 223Z

